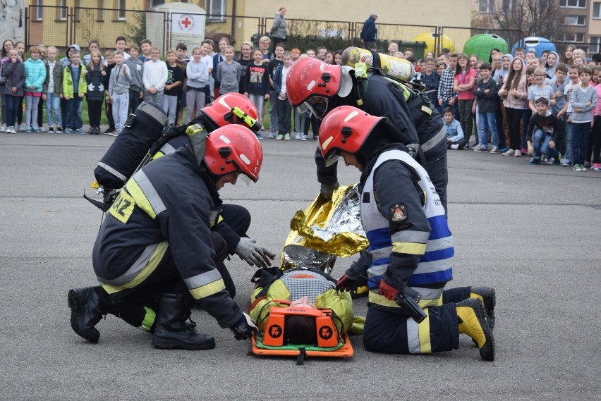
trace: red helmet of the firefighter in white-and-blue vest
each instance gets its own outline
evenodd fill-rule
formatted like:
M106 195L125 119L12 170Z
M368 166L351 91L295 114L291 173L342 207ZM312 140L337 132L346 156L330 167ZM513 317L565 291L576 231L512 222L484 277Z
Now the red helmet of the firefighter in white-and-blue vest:
M375 126L384 120L353 106L340 106L330 111L320 127L320 149L326 166L340 157L340 151L356 154Z

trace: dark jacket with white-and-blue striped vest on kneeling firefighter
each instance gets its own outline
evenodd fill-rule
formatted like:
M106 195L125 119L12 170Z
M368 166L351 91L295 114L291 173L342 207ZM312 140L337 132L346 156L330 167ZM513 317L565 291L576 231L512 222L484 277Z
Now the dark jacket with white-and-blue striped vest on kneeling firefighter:
M370 246L361 258L370 278L370 306L398 308L379 294L382 277L403 292L406 286L438 300L453 278L453 238L444 208L424 168L399 144L380 148L361 177L360 215ZM353 276L365 275L362 271ZM398 310L398 309L397 309Z

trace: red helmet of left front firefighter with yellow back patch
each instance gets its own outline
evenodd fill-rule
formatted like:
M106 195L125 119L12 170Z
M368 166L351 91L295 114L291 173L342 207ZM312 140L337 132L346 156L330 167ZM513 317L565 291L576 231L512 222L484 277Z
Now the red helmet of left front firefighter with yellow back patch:
M247 184L250 180L257 182L262 161L263 149L257 136L243 125L226 125L207 136L205 164L214 175L237 172Z

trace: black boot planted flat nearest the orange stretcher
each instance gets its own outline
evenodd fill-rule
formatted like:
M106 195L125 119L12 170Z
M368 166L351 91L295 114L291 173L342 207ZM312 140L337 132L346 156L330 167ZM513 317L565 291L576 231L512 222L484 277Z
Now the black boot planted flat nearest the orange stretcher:
M170 350L210 350L215 347L212 335L196 332L196 323L190 319L190 307L181 294L163 294L154 326L152 345Z

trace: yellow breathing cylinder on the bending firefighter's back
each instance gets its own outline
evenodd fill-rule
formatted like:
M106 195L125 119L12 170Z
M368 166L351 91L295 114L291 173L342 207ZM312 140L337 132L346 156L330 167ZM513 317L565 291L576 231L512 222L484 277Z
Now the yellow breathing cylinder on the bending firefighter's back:
M415 75L413 64L404 58L388 56L387 54L361 49L360 47L351 46L344 49L342 52L342 65L355 68L357 63L365 63L367 68L378 68L384 74L405 81L411 81L413 75Z

